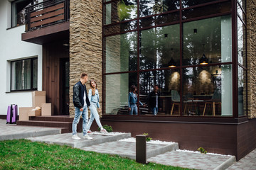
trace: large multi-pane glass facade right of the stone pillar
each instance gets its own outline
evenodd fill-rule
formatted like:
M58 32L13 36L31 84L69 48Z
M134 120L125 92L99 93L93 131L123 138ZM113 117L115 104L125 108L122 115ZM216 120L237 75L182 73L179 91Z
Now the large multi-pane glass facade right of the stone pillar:
M246 115L245 1L237 6L238 57L232 3L105 1L104 114L129 115L132 93L138 115L232 117L233 100Z

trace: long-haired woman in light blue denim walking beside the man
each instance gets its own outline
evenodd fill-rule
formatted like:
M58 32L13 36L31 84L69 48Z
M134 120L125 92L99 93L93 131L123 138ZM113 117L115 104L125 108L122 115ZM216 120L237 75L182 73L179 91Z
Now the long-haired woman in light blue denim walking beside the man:
M88 122L87 125L87 133L92 133L92 131L90 131L90 126L92 125L93 120L96 120L97 125L100 128L100 132L103 133L107 133L107 130L105 130L102 127L102 124L100 123L100 116L97 113L97 108L99 108L99 111L101 111L100 109L100 96L99 96L99 91L97 90L97 84L96 81L92 80L90 81L90 87L91 89L89 90L88 93L88 98L90 101L90 120Z

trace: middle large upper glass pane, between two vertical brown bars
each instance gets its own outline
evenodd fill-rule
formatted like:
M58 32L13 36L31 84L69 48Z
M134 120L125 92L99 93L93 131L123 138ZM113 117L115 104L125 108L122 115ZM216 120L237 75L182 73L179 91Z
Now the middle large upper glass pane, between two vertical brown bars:
M179 65L179 25L141 31L140 69L169 67L171 59Z

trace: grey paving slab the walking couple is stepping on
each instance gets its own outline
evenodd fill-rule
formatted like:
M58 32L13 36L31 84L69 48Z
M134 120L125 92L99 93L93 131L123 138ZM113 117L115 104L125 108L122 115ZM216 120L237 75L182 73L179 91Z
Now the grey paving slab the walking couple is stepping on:
M82 138L82 133L78 133L78 136ZM89 147L91 145L98 145L104 142L112 142L116 140L122 140L125 138L131 137L131 133L115 133L115 135L112 135L111 133L109 135L105 134L90 134L90 137L92 137L92 140L73 140L72 139L72 133L64 133L64 134L58 134L58 135L48 135L48 136L42 136L42 137L29 137L28 140L31 140L33 142L46 142L46 143L54 143L58 145L69 145L71 147L81 148L81 147Z

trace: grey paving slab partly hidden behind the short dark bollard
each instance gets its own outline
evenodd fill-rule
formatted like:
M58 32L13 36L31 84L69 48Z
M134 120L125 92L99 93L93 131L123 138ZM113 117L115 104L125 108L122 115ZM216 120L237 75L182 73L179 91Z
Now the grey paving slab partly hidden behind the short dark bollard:
M99 145L93 145L91 147L82 147L81 149L105 154L118 154L120 157L136 159L136 142L107 142ZM171 145L147 143L146 157L154 157L158 154L169 152L174 149L178 149L178 143L172 143Z

